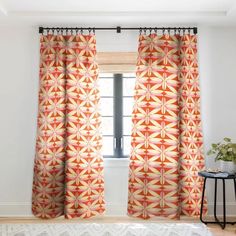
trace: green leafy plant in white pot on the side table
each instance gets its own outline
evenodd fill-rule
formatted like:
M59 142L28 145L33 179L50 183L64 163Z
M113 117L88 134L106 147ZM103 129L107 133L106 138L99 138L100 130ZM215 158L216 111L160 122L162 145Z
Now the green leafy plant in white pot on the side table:
M216 155L215 161L220 161L220 170L230 174L236 173L236 143L230 138L224 138L222 142L213 143L207 155Z

